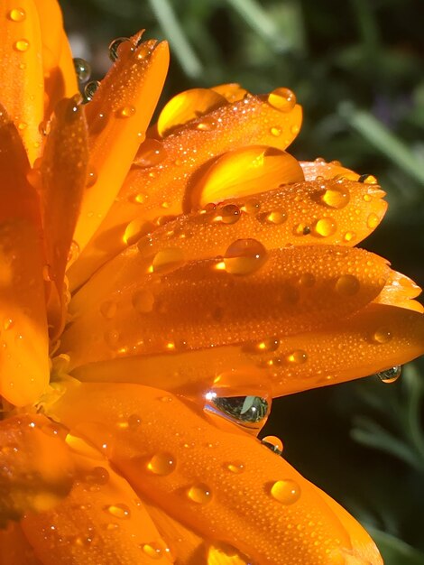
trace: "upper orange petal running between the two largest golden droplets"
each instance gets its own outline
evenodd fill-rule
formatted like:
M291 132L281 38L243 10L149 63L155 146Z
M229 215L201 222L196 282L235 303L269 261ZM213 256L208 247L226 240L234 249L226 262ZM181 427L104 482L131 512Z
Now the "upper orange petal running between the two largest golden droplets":
M204 127L205 120L212 125L210 128ZM136 157L141 166L130 171L97 235L80 261L69 270L71 289L80 286L107 258L124 248L124 232L129 222L135 218L146 221L180 214L186 190L211 159L246 145L283 150L299 132L300 122L299 106L286 112L273 106L266 97L249 96L192 120L189 126L161 141L154 140L154 152L152 140L147 147L142 145ZM144 158L143 152L148 153L147 156L144 153ZM114 166L116 159L114 156Z

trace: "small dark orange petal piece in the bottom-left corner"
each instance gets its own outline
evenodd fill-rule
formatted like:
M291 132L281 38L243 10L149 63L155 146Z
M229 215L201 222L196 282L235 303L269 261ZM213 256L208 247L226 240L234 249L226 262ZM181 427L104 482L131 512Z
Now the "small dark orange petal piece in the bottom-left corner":
M25 538L21 526L10 522L5 530L0 530L0 565L12 564L42 565L30 542Z

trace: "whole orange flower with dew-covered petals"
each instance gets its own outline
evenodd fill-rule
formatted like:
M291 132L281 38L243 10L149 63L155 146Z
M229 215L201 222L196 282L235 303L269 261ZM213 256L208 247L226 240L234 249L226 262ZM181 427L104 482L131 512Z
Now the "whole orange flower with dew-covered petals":
M255 438L272 396L424 350L418 287L354 247L375 179L285 153L287 88L147 129L165 42L115 45L82 105L54 0L0 17L0 562L382 563Z

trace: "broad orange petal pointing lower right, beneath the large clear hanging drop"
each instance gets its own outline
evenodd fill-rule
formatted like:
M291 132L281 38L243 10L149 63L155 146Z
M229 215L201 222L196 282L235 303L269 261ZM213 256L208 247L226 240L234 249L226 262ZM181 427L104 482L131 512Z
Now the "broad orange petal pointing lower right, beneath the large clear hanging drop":
M108 457L138 492L213 544L270 565L336 564L332 552L352 549L314 486L258 440L218 430L195 404L132 384L81 384L62 398L62 421L82 424L95 445L109 437Z

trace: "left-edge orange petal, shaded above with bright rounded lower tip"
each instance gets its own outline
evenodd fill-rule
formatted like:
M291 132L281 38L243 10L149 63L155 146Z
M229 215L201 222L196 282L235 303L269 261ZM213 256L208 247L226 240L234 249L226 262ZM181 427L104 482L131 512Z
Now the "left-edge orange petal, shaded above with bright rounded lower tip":
M24 405L49 382L41 221L23 144L0 114L0 393Z

